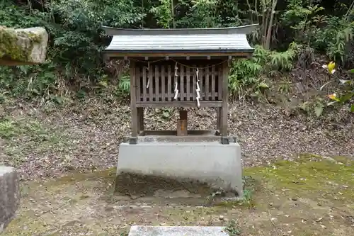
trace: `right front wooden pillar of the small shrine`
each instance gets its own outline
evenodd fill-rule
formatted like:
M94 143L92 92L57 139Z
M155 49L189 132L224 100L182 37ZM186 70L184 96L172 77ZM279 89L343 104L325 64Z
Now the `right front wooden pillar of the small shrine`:
M221 116L221 136L222 144L229 144L229 130L227 125L227 115L229 113L229 63L222 65L222 116Z

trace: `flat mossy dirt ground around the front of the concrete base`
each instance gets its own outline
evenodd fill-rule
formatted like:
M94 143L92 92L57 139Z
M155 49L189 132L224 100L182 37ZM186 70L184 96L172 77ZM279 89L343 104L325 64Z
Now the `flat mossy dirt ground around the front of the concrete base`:
M18 217L8 226L6 235L69 235L72 230L117 235L116 227L123 229L136 223L225 225L233 218L240 219L239 227L252 235L274 235L275 225L282 232L292 230L293 235L353 235L352 160L303 155L292 162L280 160L265 167L245 168L244 176L249 176L244 179L249 195L241 201L241 207L238 202L201 208L180 206L186 200L175 207L171 200L160 203L152 197L132 201L115 196L116 201L107 201L114 189L115 168L74 173L47 182L30 181L23 189ZM298 199L293 201L295 197ZM320 199L328 204L317 205ZM148 207L137 206L142 203ZM333 223L341 225L343 232L335 232Z

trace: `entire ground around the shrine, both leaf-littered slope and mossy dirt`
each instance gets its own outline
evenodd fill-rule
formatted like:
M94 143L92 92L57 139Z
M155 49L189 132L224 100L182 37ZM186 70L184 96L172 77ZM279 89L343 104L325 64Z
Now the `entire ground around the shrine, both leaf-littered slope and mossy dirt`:
M130 130L127 105L103 99L59 109L3 105L0 164L17 167L22 179L21 208L4 235L117 235L134 223L227 225L232 219L243 235L354 235L352 115L313 118L231 104L230 133L241 143L245 176L256 181L246 202L210 206L186 190L161 189L135 200L113 194L118 144ZM149 129L176 128L171 109L145 116ZM210 129L215 119L214 111L200 109L190 112L188 125Z

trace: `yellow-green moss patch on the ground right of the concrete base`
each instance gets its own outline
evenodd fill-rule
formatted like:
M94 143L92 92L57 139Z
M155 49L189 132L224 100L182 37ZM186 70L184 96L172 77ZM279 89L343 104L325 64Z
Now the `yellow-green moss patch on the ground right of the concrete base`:
M246 168L244 175L261 180L267 189L290 196L316 196L342 203L354 199L354 162L346 157L328 159L304 154L295 161Z

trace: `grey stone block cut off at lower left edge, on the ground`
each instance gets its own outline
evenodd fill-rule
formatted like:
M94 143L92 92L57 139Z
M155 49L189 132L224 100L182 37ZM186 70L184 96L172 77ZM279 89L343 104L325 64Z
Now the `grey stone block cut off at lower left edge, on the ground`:
M0 233L15 217L19 198L16 169L0 166Z

